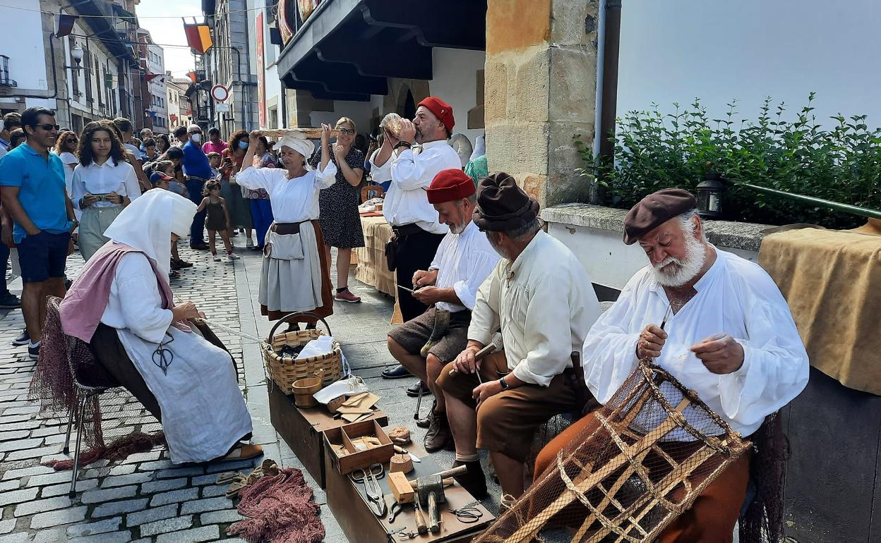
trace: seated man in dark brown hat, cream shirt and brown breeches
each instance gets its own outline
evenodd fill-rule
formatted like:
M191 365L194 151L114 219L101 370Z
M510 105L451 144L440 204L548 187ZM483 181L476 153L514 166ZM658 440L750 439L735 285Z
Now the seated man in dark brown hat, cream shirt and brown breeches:
M533 434L572 409L570 355L581 351L600 312L584 267L541 230L537 215L538 202L507 173L480 181L474 223L502 260L478 290L468 347L437 380L455 439L455 465L468 466L456 479L475 497L486 494L478 448L490 451L502 493L522 495ZM498 330L505 356L500 363L476 363L475 353Z

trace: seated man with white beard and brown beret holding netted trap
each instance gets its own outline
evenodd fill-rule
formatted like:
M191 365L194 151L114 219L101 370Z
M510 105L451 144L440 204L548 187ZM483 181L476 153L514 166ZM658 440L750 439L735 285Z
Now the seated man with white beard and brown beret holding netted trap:
M694 205L687 191L664 189L627 214L624 242L639 243L649 265L633 275L618 301L591 327L583 349L585 379L604 404L640 359L652 358L750 437L766 416L802 392L808 356L770 275L708 243ZM582 418L548 444L536 461L536 473L552 465L557 451L591 418ZM750 462L750 455L737 459L658 541L731 541Z

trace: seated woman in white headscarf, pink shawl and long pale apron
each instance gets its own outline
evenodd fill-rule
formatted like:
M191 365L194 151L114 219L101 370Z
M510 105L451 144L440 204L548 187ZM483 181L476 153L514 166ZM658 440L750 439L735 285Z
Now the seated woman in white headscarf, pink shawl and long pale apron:
M110 241L88 261L60 310L65 334L90 343L107 371L162 423L175 464L261 452L239 443L252 424L231 356L194 332L196 305L175 305L168 286L171 244L189 232L195 214L196 205L182 196L147 191L107 228Z

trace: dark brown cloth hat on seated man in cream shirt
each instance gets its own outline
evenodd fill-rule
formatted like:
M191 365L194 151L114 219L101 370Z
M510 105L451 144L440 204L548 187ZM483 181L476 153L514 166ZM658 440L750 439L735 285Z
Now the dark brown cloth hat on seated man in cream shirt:
M478 184L474 224L483 231L514 230L536 218L538 207L513 177L505 172L493 173Z

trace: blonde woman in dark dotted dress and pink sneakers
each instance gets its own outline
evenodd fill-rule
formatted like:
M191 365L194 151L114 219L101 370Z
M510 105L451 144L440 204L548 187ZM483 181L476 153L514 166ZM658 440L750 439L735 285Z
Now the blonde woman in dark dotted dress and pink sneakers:
M337 247L337 293L336 299L341 302L357 304L360 297L349 290L349 268L352 265L352 248L364 246L364 232L361 230L361 217L358 214L358 187L364 175L364 153L354 146L355 121L341 117L336 125L339 131L337 141L331 149L324 149L327 142L322 141L319 149L309 164L315 167L322 159L322 154L329 151L330 161L337 166L337 182L327 190L322 190L320 197L321 216L324 234L324 251L330 261L330 247Z

